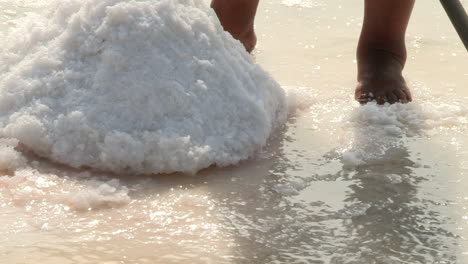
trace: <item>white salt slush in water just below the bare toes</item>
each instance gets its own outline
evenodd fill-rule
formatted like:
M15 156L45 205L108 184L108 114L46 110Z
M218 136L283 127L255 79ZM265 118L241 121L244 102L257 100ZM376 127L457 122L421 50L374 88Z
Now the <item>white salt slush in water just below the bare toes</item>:
M409 104L360 106L349 118L347 128L352 141L342 153L342 162L345 167L366 164L380 160L390 149L398 150L405 137L424 135L434 129L464 129L467 115L468 107L463 103L443 103L436 98Z

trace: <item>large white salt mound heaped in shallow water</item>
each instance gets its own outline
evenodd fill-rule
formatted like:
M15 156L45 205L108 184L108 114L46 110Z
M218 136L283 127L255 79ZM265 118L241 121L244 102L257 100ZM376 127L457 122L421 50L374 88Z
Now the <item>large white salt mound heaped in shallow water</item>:
M253 155L281 87L203 0L68 0L0 48L0 137L73 167L196 172Z

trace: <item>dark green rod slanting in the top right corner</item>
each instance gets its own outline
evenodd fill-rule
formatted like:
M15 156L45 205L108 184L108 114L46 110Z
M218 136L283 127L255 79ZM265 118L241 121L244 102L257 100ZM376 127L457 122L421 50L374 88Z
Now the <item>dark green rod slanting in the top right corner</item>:
M468 51L468 15L463 5L459 0L440 0L440 3Z

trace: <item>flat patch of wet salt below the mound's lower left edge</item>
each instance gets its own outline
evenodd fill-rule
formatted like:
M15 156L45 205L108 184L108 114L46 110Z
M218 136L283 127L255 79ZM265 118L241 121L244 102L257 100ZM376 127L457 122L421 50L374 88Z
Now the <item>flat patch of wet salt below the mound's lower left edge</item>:
M3 202L16 206L60 205L80 211L118 207L130 202L128 188L118 179L81 179L33 168L17 169L12 176L0 176L0 191Z

